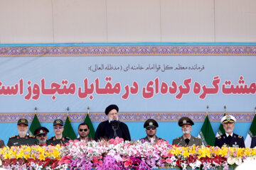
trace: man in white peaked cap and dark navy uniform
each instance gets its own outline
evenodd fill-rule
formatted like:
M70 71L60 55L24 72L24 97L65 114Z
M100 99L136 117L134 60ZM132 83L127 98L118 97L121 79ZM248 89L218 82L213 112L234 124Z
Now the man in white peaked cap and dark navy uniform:
M245 142L242 136L236 135L233 130L235 128L236 119L233 115L225 115L221 118L220 123L223 124L225 134L215 137L215 147L245 147Z

